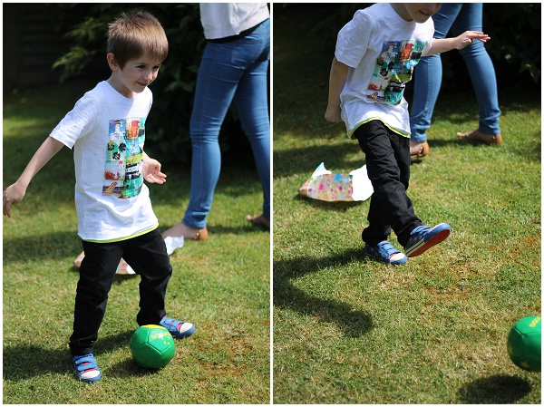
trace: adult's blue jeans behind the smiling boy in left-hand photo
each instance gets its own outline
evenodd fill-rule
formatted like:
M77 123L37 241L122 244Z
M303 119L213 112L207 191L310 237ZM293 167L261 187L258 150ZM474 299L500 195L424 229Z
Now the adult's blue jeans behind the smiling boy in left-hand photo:
M206 45L190 117L190 199L182 220L189 228L206 227L221 169L219 131L231 102L257 163L263 189L263 217L270 219L269 59L269 20L235 41Z

